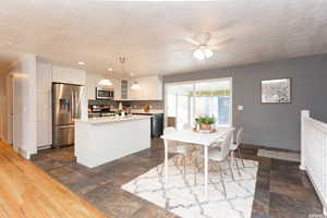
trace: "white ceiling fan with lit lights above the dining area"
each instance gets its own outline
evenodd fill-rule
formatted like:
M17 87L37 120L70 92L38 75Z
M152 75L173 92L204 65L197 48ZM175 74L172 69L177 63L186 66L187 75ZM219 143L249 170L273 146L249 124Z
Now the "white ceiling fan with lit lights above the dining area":
M219 40L218 43L210 41L211 40L211 34L206 32L206 33L201 33L194 35L193 38L191 37L185 37L183 38L185 41L192 44L191 50L193 51L193 57L198 59L198 60L205 60L208 58L211 58L214 52L213 50L219 50L221 49L221 45L223 43L227 43L230 40L229 38Z

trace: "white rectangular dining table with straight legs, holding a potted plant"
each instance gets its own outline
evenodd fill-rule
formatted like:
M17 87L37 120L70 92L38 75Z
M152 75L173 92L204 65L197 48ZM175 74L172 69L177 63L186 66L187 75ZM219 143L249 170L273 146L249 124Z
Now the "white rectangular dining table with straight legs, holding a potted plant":
M182 143L196 144L203 146L204 150L204 193L205 198L208 199L208 147L223 137L228 132L234 131L234 128L217 128L215 133L199 133L192 129L180 130L169 134L161 135L165 144L165 182L168 182L168 146L167 141L175 141Z

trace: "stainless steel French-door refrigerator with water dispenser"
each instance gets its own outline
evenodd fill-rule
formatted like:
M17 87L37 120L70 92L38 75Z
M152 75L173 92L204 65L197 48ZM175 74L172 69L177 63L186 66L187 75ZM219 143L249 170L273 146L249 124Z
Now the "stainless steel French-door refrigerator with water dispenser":
M74 120L81 118L84 86L52 84L52 147L74 144Z

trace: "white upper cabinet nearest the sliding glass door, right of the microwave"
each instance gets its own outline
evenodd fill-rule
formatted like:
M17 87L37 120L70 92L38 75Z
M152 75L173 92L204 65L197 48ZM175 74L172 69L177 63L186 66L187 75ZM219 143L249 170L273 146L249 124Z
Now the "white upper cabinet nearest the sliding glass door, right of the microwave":
M162 100L162 78L160 76L154 75L130 80L130 87L135 81L141 88L130 88L131 100Z

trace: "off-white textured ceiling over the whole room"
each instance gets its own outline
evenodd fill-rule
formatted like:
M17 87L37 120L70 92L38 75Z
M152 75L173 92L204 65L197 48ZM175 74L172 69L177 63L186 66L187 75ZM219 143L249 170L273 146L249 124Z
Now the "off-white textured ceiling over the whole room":
M136 75L226 68L326 52L326 12L325 0L2 0L0 51L72 66L85 61L97 73L111 66L114 75L120 56ZM206 61L175 51L201 32L231 40Z

